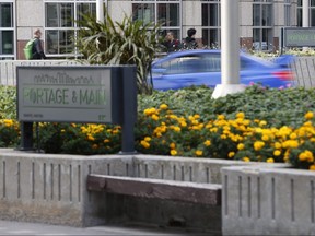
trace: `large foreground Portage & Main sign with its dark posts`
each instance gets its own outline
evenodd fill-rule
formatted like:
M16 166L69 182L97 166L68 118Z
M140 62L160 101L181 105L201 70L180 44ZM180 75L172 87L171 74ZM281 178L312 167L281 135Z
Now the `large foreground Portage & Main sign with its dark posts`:
M135 152L135 66L16 67L20 150L33 149L33 122L116 123L121 153Z

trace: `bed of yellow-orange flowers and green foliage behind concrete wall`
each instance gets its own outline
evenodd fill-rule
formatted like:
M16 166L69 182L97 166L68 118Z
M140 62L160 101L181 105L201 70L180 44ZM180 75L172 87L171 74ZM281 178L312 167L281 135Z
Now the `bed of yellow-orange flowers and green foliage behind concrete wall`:
M136 150L314 169L315 90L255 85L215 101L211 92L191 87L139 96ZM16 127L13 118L2 119L0 146L16 146ZM116 154L121 149L121 128L114 125L43 122L34 133L36 148L46 153Z

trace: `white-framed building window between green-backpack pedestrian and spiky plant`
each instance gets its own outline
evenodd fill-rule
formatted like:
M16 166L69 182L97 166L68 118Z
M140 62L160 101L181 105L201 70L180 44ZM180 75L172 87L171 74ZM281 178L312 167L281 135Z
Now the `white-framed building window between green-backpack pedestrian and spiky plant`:
M50 57L73 57L77 54L72 38L82 13L96 15L95 0L46 1L45 48Z

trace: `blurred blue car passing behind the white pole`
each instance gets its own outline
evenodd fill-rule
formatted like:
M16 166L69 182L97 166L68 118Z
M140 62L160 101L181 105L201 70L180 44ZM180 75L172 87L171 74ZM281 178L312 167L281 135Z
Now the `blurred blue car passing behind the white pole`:
M240 83L288 87L294 83L290 63L294 57L283 55L265 60L240 52ZM214 87L221 84L221 51L209 49L183 50L170 54L152 63L154 90L179 90L191 85Z

